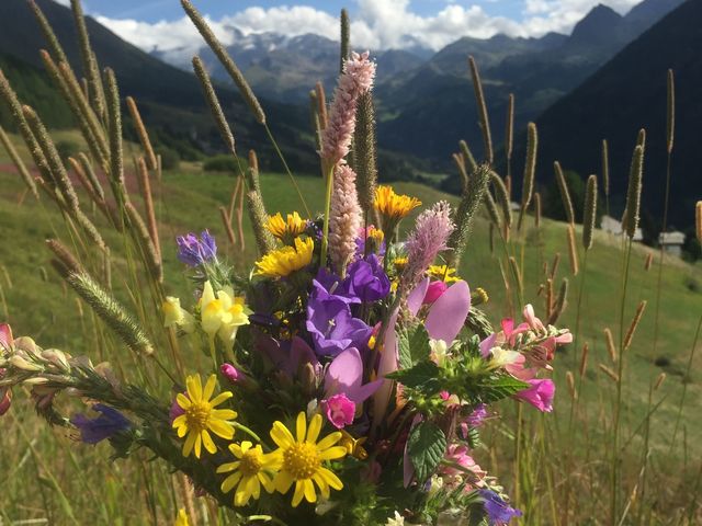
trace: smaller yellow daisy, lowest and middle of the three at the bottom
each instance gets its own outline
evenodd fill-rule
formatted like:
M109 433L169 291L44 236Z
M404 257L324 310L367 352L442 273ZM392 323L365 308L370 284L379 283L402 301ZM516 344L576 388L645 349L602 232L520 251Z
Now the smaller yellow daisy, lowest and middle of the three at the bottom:
M238 460L223 464L217 468L218 473L229 473L222 482L222 491L229 493L234 488L234 505L246 506L249 500L258 500L261 496L261 484L269 493L273 493L274 472L280 466L280 459L273 454L264 454L260 445L253 447L248 441L239 444L229 444L229 450Z

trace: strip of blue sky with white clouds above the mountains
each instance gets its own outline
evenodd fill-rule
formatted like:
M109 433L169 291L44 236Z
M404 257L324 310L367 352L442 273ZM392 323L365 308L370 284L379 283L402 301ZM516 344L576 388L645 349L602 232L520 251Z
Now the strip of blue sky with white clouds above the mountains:
M56 0L67 4L69 0ZM419 45L438 50L462 36L488 38L569 33L598 3L624 14L641 0L192 0L226 45L237 36L315 33L338 39L342 7L351 16L355 48ZM179 0L83 0L86 12L124 39L151 52L189 55L202 41Z

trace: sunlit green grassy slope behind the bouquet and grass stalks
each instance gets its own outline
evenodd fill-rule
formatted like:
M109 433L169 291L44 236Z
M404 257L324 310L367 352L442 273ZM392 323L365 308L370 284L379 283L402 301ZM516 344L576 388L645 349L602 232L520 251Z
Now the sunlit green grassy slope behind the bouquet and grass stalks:
M0 158L0 162L4 162ZM226 247L224 229L220 224L217 206L227 205L234 186L234 180L223 174L205 174L200 172L195 167L184 167L182 171L165 174L163 185L160 188L161 204L158 206L159 219L161 221L161 237L167 266L167 289L169 293L180 295L182 298L188 297L186 282L182 277L181 266L176 261L174 250L171 240L177 233L188 230L199 230L210 228L220 242ZM4 250L0 255L0 265L8 271L8 275L12 282L12 286L3 276L0 275L7 306L9 309L9 319L12 322L15 334L32 334L37 341L46 346L56 345L75 351L79 350L81 342L80 321L77 317L77 302L72 294L66 293L59 279L48 266L48 251L42 247L42 241L48 236L58 235L61 239L68 240L66 228L63 221L54 210L50 204L37 204L32 198L26 198L22 205L18 205L18 201L23 193L23 186L16 175L0 173L0 238L5 240ZM292 190L290 181L282 175L263 174L261 178L264 198L269 210L288 211L292 209L302 209L296 201L296 195ZM298 178L298 184L303 194L308 201L312 209L320 209L322 187L317 178ZM426 204L432 203L439 198L450 198L429 187L414 183L398 183L396 188L400 192L418 196ZM531 219L526 221L531 227ZM491 315L492 320L498 320L508 311L508 305L505 298L503 285L501 283L498 260L490 255L488 249L488 228L487 222L479 219L474 228L473 238L471 240L468 251L463 260L461 275L464 276L473 286L482 286L488 290L491 300L487 310ZM542 261L551 260L553 254L561 252L564 256L561 270L558 272L558 282L561 276L569 275L567 265L566 235L563 224L544 220L540 232L528 228L523 261L524 261L524 282L525 300L532 301L537 309L537 313L542 311L541 298L536 297L537 283L541 282ZM239 250L229 250L231 256L236 255L237 261L251 262L254 258L254 243L251 235L250 226L246 225L247 247L244 254ZM112 243L118 240L107 237ZM114 245L114 244L113 244ZM227 250L226 248L224 250ZM501 250L501 249L500 249ZM649 306L645 313L642 324L638 327L634 345L629 353L630 381L625 391L625 399L631 401L627 403L629 423L631 428L636 427L638 422L645 414L645 398L648 389L648 382L655 378L659 368L653 365L653 359L657 356L667 356L671 361L668 368L669 375L661 392L668 393L669 403L664 404L657 416L655 435L656 444L660 447L666 445L666 438L671 433L671 422L675 420L677 402L681 395L681 377L677 374L684 369L688 353L693 339L693 331L700 316L700 305L702 305L702 296L699 293L690 291L686 282L690 278L702 281L700 268L693 268L689 265L676 262L668 264L665 268L664 276L664 294L660 309L660 341L658 350L653 353L653 319L655 296L655 273L653 271L644 271L644 260L646 250L635 248L631 263L631 286L629 290L629 301L626 305L625 328L633 315L634 308L641 298L648 298ZM241 260L244 255L244 260ZM520 253L518 252L518 258ZM590 365L588 380L582 386L581 403L584 400L590 400L588 403L588 412L591 420L586 422L587 425L598 426L598 414L610 412L610 402L608 390L611 389L612 382L609 378L597 370L597 363L609 363L609 357L603 344L602 328L611 327L615 339L618 339L619 328L619 276L622 264L621 251L616 247L616 242L604 236L599 236L596 245L590 253L588 262L588 283L587 294L582 301L581 334L579 336L580 344L585 341L590 343ZM47 270L48 283L45 283L41 267ZM655 268L655 267L654 267ZM2 271L2 268L0 268ZM116 265L115 278L120 278L120 265ZM570 301L567 315L561 324L575 329L575 316L577 296L576 290L579 286L578 278L571 278L570 282ZM188 305L184 299L184 305ZM4 305L0 305L0 315L5 318L1 310ZM554 419L555 425L565 425L567 421L567 411L569 407L567 389L565 387L564 374L567 368L575 368L571 364L574 353L568 352L559 362L556 363L557 380L559 385L561 396L558 397L559 405L557 413L563 414L562 419ZM702 365L702 359L698 357L693 370ZM692 384L688 390L687 414L692 414L699 410L699 400L702 390L697 381L695 375L692 376ZM86 499L91 502L95 495L86 493L87 488L78 481L71 480L72 473L80 469L91 469L98 477L106 477L105 490L114 493L114 499L110 498L101 504L101 508L95 513L104 516L114 517L115 512L110 506L117 505L121 499L134 499L134 491L138 491L141 480L135 488L124 487L124 480L121 480L122 470L127 469L125 462L116 462L114 465L106 464L102 458L100 448L86 451L86 448L73 451L75 446L69 441L60 439L56 443L48 438L50 432L45 427L36 431L33 418L27 418L24 409L29 409L29 404L21 393L18 393L18 408L14 413L22 416L25 421L25 430L29 434L42 439L42 458L50 458L48 455L66 455L67 451L73 454L75 466L63 464L59 468L52 466L52 470L57 470L57 477L60 476L64 491L69 493L69 500L76 503L78 500ZM14 418L13 418L14 419ZM21 425L18 421L12 421L13 425ZM660 425L659 425L660 424ZM693 419L686 421L688 436L699 436L702 432L702 424ZM15 441L22 444L21 434L16 435ZM694 453L699 453L699 444L689 445ZM18 457L18 461L21 460ZM26 460L26 459L25 459ZM38 460L44 462L45 460ZM128 462L127 462L128 464ZM41 464L39 464L41 466ZM13 471L11 487L21 495L27 491L21 485L21 481L25 477L34 477L34 467L29 462L22 465ZM39 471L44 469L39 467ZM82 492L82 496L76 496L75 492ZM101 490L102 493L103 490ZM50 491L49 491L50 493ZM9 492L7 494L13 494ZM19 499L15 498L15 499ZM168 499L168 496L165 496ZM18 500L13 500L13 505L18 504ZM168 502L161 503L168 507ZM2 507L2 506L0 506ZM41 507L41 506L39 506ZM13 507L14 508L14 507ZM136 508L133 513L137 513ZM106 515L105 515L106 514ZM16 516L16 515L15 515Z

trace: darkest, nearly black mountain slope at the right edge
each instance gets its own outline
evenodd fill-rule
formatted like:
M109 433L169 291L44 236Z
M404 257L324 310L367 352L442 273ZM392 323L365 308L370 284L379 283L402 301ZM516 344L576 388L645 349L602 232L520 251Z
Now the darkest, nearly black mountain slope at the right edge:
M626 46L537 119L541 180L552 161L582 176L601 173L600 144L610 142L613 209L621 211L631 155L646 128L643 206L663 215L666 179L666 76L675 71L676 128L669 225L693 222L702 198L702 0L688 0ZM523 152L518 153L520 157Z

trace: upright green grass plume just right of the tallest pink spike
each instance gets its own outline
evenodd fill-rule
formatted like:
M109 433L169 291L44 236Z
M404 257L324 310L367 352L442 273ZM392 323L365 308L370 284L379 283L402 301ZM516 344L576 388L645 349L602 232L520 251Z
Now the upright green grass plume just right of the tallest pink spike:
M366 91L359 98L355 130L353 132L353 168L356 173L359 203L365 217L377 222L373 201L377 186L377 160L375 141L375 107L373 94Z

